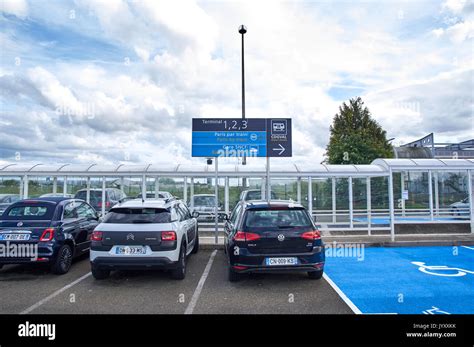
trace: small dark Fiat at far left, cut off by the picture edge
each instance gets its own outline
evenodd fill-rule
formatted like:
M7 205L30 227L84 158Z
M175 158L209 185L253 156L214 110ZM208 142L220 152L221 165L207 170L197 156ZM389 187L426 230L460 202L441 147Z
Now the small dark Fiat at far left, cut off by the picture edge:
M0 220L1 248L13 248L17 254L0 254L0 267L45 263L53 273L64 274L73 257L89 251L91 234L98 223L97 212L83 200L47 197L18 201L5 210Z

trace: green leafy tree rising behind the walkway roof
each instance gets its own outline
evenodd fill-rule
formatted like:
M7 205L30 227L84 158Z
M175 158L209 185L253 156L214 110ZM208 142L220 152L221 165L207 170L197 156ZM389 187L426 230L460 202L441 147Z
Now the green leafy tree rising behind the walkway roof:
M393 156L386 131L372 119L360 97L339 107L330 132L326 147L329 164L370 164L376 158Z

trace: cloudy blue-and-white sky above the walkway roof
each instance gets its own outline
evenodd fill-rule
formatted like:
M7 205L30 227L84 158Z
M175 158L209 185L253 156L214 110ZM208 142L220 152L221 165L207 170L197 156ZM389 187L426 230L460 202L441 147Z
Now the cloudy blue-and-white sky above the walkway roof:
M0 3L0 162L192 161L193 117L241 115L240 24L247 116L293 118L295 162L356 96L395 144L474 134L472 0Z

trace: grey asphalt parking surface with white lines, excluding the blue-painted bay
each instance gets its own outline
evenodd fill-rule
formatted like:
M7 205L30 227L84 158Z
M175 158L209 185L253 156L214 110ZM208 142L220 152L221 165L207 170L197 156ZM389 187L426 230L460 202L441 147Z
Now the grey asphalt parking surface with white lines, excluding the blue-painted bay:
M215 252L215 253L214 253ZM222 250L188 258L183 281L162 271L119 271L96 281L87 257L69 273L10 265L0 270L1 313L293 313L350 314L353 311L323 278L301 274L258 274L227 280Z

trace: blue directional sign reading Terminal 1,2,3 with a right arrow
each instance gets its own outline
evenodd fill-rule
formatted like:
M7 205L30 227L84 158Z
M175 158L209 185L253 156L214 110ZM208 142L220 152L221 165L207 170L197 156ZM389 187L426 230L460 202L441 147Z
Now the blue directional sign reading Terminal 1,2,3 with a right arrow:
M291 119L193 118L193 157L291 155Z

